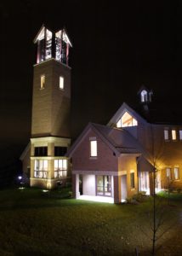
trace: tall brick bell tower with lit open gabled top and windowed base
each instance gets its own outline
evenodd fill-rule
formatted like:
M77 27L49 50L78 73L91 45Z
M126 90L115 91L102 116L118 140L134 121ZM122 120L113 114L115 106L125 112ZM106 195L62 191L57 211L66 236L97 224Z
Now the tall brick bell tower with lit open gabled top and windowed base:
M54 32L43 25L34 44L30 183L52 189L70 177L65 153L71 144L71 42L65 29Z

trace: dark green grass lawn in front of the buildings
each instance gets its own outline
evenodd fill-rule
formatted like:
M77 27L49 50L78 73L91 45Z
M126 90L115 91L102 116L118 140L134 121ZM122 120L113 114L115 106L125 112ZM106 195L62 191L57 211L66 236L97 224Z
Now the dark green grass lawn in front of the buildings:
M0 255L150 255L151 199L112 205L66 198L68 190L0 190ZM157 255L181 255L182 199L160 195Z

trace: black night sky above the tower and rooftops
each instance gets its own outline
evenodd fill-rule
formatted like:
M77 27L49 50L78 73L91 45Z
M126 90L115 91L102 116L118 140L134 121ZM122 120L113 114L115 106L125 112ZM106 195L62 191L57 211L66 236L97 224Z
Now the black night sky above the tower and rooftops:
M181 1L17 0L0 11L0 171L31 137L33 39L43 23L65 26L73 44L73 138L89 121L106 124L122 102L136 106L142 84L158 106L182 107Z

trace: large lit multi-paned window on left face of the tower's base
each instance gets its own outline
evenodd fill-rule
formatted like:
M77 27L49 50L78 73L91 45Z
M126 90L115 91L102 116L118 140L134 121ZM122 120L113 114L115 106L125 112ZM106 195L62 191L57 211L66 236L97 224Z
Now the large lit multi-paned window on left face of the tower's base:
M34 177L48 177L48 160L35 160Z

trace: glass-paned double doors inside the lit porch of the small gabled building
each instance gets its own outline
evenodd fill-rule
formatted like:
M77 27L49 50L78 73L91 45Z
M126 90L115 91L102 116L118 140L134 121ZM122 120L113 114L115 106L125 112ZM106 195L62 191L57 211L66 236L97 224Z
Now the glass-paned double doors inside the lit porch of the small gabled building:
M97 176L97 195L111 196L111 176Z

